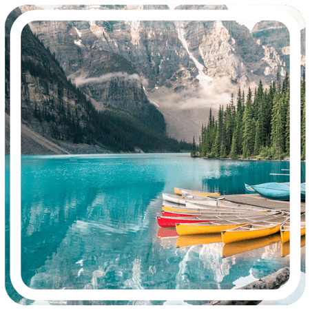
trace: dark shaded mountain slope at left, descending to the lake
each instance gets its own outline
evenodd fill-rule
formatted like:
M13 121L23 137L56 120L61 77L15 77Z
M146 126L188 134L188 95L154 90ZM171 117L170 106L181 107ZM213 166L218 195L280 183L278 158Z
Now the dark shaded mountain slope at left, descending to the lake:
M6 21L6 120L10 114L9 34L14 19L20 14L21 11L17 8ZM146 152L159 149L172 152L179 150L178 143L165 136L166 125L163 114L149 103L142 82L132 65L112 52L97 50L95 54L88 55L87 50L77 50L78 54L81 52L83 55L80 60L83 59L82 64L88 67L90 65L87 61L91 63L92 59L98 58L96 68L92 67L87 76L87 78L91 76L91 79L101 79L101 83L92 81L92 96L96 98L95 92L100 93L100 90L104 91L100 98L105 96L109 99L113 94L114 106L107 100L99 107L91 98L94 106L90 97L87 97L65 75L55 58L55 53L45 48L29 26L25 26L21 34L21 121L26 127L22 127L26 134L22 132L22 136L35 139L39 134L41 137L39 140L44 144L41 150L44 149L44 152L46 148L50 149L51 145L46 138L56 144L67 141L96 147L99 145L96 148L99 153L107 152L102 147L114 152L120 150L141 152L141 149ZM122 68L121 72L119 68ZM104 83L104 74L110 74L107 83ZM83 81L79 81L79 84L83 88ZM96 85L97 87L101 85L101 88L96 90ZM90 92L89 88L87 92ZM117 96L122 103L126 100L121 110L116 107ZM8 149L9 139L6 139L6 142ZM25 143L22 142L23 146ZM56 154L71 153L60 150L62 147L54 149ZM76 151L73 149L73 152ZM22 154L28 154L28 150L22 149Z

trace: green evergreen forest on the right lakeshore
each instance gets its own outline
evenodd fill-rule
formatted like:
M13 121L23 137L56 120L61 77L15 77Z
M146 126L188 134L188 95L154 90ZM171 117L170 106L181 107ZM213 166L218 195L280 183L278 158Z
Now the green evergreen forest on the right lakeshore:
M306 81L300 81L301 160L306 159ZM191 156L208 158L265 158L282 160L289 157L289 76L271 81L264 90L260 81L247 96L240 87L236 97L224 108L220 105L217 121L210 109L207 123L202 126L198 149Z

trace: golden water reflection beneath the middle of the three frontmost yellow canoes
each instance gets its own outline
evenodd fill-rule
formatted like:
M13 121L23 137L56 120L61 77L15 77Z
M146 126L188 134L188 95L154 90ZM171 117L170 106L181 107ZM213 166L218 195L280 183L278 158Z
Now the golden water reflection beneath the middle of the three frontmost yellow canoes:
M222 236L222 235L221 235ZM268 245L273 245L273 243L280 242L281 237L278 234L273 234L272 236L260 237L250 240L241 240L240 242L232 242L224 245L222 250L222 258L227 258L229 256L234 256L246 251L251 251L254 249L260 249L261 247L266 247Z

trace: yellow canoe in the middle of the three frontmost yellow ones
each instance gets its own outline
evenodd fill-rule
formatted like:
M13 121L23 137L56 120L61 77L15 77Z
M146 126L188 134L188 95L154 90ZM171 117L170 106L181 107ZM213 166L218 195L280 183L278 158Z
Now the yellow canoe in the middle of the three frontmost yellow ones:
M223 229L223 242L227 244L240 240L248 240L276 234L280 231L281 225L287 220L289 220L289 216L286 214L267 216L265 220L258 220L255 223L247 223L245 225L240 225L239 227Z

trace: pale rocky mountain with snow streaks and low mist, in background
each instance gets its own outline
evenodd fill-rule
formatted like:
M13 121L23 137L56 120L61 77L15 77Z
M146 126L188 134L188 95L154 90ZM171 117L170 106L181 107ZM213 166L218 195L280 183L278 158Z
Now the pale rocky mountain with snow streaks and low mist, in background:
M85 4L58 9L169 7ZM197 9L227 7L176 7ZM289 32L278 22L261 21L251 32L236 21L37 21L30 28L97 108L110 104L143 119L155 107L165 117L167 134L179 140L197 137L209 108L216 114L239 86L247 91L260 80L264 85L275 80L277 72L282 78L289 72Z

